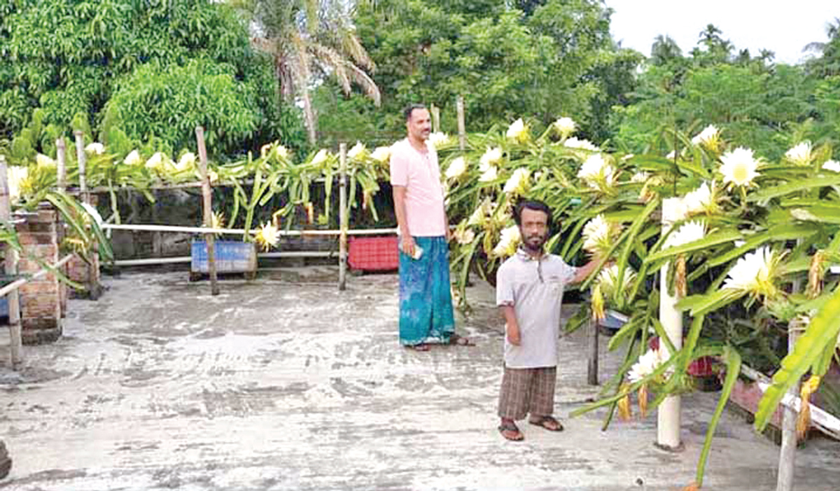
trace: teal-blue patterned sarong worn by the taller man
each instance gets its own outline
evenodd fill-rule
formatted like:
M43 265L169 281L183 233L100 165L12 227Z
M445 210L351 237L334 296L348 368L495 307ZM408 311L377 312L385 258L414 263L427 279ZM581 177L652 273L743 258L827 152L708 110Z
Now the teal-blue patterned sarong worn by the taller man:
M444 237L415 237L420 259L400 251L400 343L449 342L455 331L449 285L449 244Z

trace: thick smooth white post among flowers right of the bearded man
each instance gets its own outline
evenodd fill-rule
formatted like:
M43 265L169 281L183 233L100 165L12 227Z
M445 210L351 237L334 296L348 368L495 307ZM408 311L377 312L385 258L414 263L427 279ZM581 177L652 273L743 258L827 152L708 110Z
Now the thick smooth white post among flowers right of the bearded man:
M675 206L669 200L662 204L662 232L668 232L673 223L680 219L675 217ZM659 271L659 321L664 327L665 334L675 349L682 347L682 312L676 308L677 298L668 293L668 269L671 263L665 264ZM659 343L659 349L668 351L665 342ZM673 356L674 353L668 353ZM657 410L656 444L659 448L677 452L682 449L680 441L680 396L669 396L659 405Z

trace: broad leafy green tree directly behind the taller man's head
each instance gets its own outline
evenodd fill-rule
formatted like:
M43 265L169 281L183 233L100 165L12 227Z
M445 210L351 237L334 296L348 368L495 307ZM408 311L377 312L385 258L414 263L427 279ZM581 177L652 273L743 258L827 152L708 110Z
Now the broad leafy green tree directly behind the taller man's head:
M633 55L612 41L610 10L593 0L516 3L524 11L501 0L480 4L360 4L356 24L377 66L386 128L400 128L407 103L427 102L444 109L451 131L454 102L463 95L471 131L521 116L544 125L569 115L597 132L604 108L627 91L615 84L633 81L635 68Z

